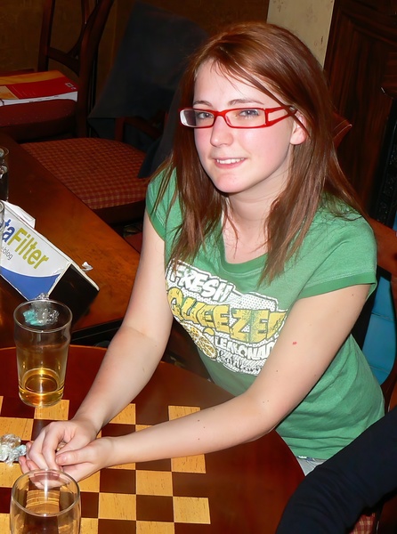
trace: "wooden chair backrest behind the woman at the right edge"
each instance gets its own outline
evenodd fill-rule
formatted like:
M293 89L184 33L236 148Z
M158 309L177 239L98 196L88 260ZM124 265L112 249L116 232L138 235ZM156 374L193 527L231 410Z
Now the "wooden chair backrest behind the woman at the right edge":
M394 310L397 311L397 235L396 231L375 219L369 219L372 230L377 239L377 265L387 273L391 280ZM391 408L391 398L394 386L397 384L397 357L385 382L381 385L385 396L385 409Z

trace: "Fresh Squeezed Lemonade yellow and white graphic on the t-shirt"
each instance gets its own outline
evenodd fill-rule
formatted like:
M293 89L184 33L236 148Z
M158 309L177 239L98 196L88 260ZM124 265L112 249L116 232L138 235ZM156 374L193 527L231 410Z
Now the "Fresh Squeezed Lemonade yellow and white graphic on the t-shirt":
M175 319L208 358L234 372L259 373L286 318L277 299L241 293L187 263L168 266L166 283Z

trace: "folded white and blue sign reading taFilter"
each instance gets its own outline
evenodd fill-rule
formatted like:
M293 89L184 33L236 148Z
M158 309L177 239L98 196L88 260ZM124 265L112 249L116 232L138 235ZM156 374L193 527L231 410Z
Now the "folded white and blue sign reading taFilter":
M99 291L95 282L35 230L33 217L9 202L4 206L1 276L28 300L51 295L64 303L91 302ZM81 294L68 295L70 287Z

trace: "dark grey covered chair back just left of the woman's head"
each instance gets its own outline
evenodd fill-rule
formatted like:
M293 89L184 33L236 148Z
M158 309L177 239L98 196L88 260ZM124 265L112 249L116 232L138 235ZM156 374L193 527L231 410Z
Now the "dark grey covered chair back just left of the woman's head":
M140 117L162 131L186 61L207 38L192 20L134 0L109 77L89 116L99 137L114 139L117 117ZM134 126L134 125L133 125ZM152 135L127 127L124 141L147 151Z

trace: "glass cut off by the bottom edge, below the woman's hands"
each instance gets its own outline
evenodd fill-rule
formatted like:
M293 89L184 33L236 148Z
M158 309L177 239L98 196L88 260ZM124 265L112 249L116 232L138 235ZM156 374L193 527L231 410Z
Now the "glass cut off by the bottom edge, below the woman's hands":
M14 482L11 534L78 534L80 522L80 490L69 474L37 469Z

